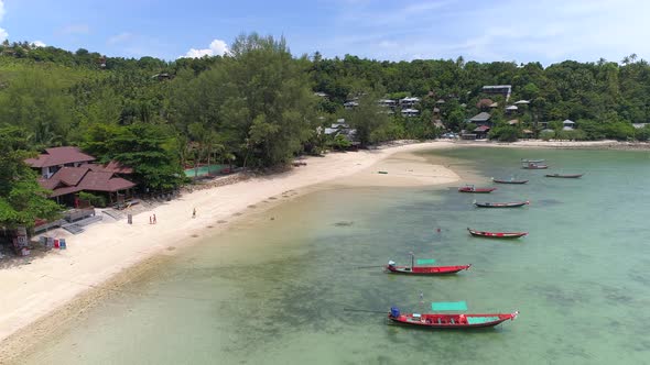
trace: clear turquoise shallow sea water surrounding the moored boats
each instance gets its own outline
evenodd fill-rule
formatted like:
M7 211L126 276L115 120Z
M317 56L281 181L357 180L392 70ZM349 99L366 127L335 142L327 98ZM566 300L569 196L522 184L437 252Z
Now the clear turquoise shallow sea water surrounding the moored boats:
M530 178L465 195L427 189L323 189L253 215L183 251L93 309L28 364L644 364L650 358L650 154L610 151L449 150L464 181ZM520 158L546 158L549 179ZM531 200L476 209L474 199ZM274 220L270 220L270 218ZM516 241L472 237L524 230ZM437 229L441 232L437 232ZM449 277L380 268L408 253L440 265L473 264ZM420 294L423 301L420 300ZM384 314L344 308L426 311L432 301L469 311L520 310L496 329L422 331Z

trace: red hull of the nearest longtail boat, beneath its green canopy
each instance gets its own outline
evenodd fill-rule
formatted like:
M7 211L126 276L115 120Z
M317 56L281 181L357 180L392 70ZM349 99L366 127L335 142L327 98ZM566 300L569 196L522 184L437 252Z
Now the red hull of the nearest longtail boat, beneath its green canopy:
M444 314L444 313L401 313L399 308L392 307L388 319L400 324L430 329L476 329L495 327L507 320L514 320L519 311L512 313L485 314Z

